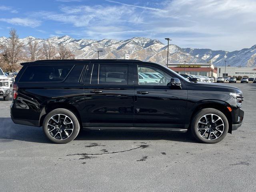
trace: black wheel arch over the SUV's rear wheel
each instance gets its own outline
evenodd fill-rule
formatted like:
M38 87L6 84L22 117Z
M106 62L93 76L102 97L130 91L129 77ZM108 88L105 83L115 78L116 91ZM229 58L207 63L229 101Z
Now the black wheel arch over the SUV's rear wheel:
M42 126L42 124L44 122L44 118L49 112L51 112L54 109L58 109L58 108L64 108L64 109L68 109L68 110L72 111L77 116L80 126L82 126L81 116L80 116L80 113L78 112L77 108L72 104L62 103L62 102L52 102L52 103L44 106L44 108L40 114L39 126Z

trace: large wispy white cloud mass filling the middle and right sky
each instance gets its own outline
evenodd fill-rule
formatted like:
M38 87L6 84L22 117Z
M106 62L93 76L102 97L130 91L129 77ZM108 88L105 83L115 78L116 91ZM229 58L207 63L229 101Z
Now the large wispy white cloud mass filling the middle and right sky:
M182 47L230 51L256 44L256 0L164 0L140 6L105 1L111 6L60 6L32 16L71 25L70 34L94 39L169 37Z

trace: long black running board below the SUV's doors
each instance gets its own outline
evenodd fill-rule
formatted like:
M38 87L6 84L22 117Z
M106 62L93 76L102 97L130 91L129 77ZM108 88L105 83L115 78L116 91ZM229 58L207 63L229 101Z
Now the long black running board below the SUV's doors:
M83 130L148 130L148 131L171 131L185 133L188 129L169 127L83 127Z

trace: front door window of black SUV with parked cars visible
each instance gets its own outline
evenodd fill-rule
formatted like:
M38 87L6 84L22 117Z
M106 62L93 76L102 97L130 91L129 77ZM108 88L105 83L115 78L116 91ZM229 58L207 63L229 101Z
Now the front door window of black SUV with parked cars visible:
M143 76L142 74L146 74ZM152 78L154 74L159 74L161 78ZM145 65L138 65L138 84L139 85L153 85L153 86L166 86L170 80L171 76L168 75L166 72L153 67L153 66L145 66Z

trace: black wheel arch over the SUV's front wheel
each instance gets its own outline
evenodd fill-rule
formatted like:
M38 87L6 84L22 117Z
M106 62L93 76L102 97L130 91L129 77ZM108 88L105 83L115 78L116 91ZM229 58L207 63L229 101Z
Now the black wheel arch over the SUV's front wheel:
M189 127L191 126L192 118L199 110L204 108L214 108L221 111L228 119L228 133L231 134L232 133L232 115L227 107L230 107L230 105L227 102L219 101L219 100L207 100L207 101L200 102L192 112L192 115L190 117Z

